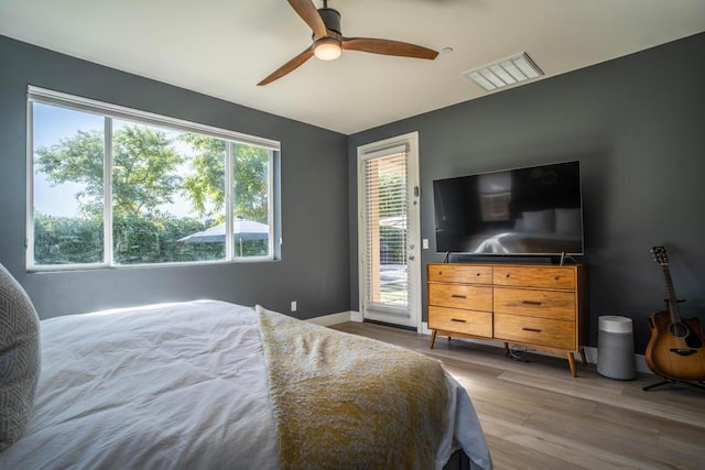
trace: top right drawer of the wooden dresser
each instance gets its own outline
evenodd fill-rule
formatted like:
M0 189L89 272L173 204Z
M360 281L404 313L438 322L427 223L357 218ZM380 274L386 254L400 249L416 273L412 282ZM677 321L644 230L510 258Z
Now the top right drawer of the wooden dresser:
M495 266L495 285L575 289L573 266Z

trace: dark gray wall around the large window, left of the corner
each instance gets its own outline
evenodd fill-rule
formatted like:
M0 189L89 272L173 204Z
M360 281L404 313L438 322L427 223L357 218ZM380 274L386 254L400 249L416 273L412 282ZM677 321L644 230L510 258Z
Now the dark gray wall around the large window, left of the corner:
M28 84L280 141L281 261L26 273ZM0 36L0 263L42 318L193 298L261 303L285 313L297 300L293 315L300 318L346 311L346 142L343 134Z

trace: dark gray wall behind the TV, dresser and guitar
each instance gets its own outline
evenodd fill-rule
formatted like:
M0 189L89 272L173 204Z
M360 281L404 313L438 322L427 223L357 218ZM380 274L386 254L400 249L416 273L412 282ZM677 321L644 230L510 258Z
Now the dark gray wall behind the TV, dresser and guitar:
M699 34L351 135L351 308L358 298L356 147L419 131L422 238L431 242L424 270L443 259L435 252L433 179L579 160L590 345L600 315L621 315L634 320L637 350L644 351L646 318L663 309L665 297L652 245L668 249L676 295L686 299L682 315L705 319L703 52Z

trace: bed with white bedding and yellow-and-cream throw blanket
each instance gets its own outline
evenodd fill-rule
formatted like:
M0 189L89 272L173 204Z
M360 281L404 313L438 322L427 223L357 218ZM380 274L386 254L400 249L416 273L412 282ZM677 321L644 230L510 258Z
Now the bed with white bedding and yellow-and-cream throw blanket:
M259 306L64 316L41 321L40 342L0 468L421 469L457 450L491 468L466 391L435 360Z

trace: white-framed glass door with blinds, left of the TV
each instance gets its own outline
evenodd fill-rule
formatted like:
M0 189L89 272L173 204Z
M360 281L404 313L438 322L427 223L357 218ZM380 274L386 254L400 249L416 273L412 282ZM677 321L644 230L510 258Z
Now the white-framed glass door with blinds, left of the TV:
M365 319L417 328L415 152L409 139L382 146L360 154L360 309Z

